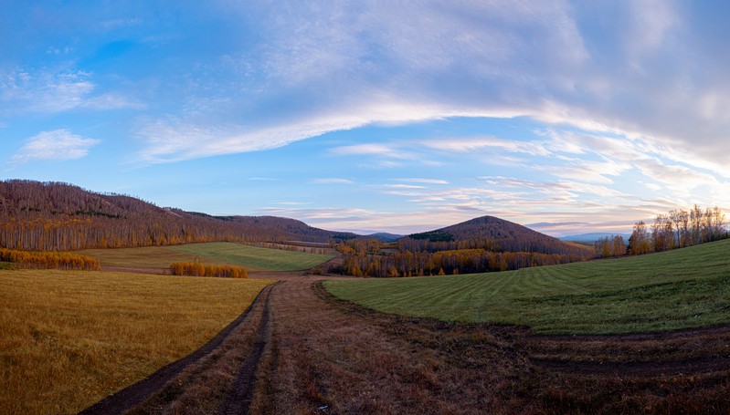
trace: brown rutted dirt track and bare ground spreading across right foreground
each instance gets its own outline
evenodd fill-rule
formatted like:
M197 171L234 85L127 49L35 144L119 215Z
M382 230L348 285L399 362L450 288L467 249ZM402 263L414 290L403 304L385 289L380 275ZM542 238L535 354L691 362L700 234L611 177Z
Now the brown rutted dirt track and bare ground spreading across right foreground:
M538 336L372 312L325 277L251 276L281 282L206 348L84 413L730 411L730 326Z

